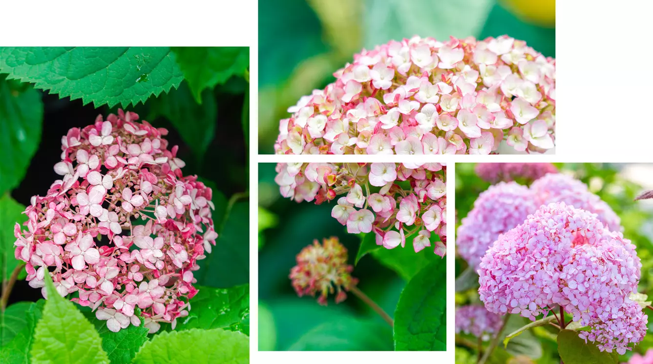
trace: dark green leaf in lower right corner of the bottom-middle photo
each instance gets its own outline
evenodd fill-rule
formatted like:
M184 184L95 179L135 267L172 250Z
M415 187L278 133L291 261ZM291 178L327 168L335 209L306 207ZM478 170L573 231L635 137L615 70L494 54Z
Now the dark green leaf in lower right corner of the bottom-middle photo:
M414 252L413 252L414 254ZM434 261L408 282L394 312L395 350L446 350L447 272Z

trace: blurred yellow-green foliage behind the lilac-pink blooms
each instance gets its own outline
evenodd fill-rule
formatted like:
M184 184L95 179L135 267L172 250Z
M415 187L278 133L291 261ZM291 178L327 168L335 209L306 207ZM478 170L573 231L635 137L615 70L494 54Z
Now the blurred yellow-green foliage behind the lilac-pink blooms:
M653 169L653 165L619 163L554 163L554 165L558 167L561 173L571 174L587 184L590 191L601 197L621 218L624 237L630 239L637 246L637 256L639 256L642 263L639 292L653 295L653 203L650 203L650 201L635 201L635 197L644 190L636 181L642 180L646 176L633 178L633 176L637 177L637 174L641 173L642 168ZM479 193L490 186L488 182L481 180L475 174L474 169L475 163L456 163L456 228L460 225L460 220L467 216L471 208L473 208L473 203ZM518 182L524 184L523 181ZM480 302L477 293L478 276L476 273L467 270L467 267L467 263L462 258L456 257L456 306ZM463 285L465 286L462 287ZM645 313L650 314L651 312ZM651 335L653 333L653 324L649 323L648 327L648 335L646 335L645 339L635 346L633 351L620 356L620 361L628 361L633 352L643 354L648 348L653 348L653 335ZM530 340L526 340L527 344L541 346L543 354L537 359L529 354L532 353L532 350L527 350L522 354L528 354L534 359L535 363L560 363L558 344L556 343L556 329L547 326L537 327L531 331L534 336ZM470 335L458 336L475 343L475 338ZM520 337L522 335L515 339ZM511 342L515 339L512 339ZM456 363L458 363L458 357L460 357L460 363L465 363L468 355L473 357L476 352L475 346L470 347L461 343L462 341L457 344L459 348L456 350ZM462 350L462 348L466 349ZM502 355L501 350L493 354L493 356ZM509 357L515 357L516 355L518 353L509 350Z

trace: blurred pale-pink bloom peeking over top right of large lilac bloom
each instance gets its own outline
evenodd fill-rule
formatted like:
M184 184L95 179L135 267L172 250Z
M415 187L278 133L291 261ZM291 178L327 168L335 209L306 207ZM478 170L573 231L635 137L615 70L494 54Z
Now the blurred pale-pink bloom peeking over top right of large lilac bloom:
M537 197L538 205L564 202L575 208L582 208L598 215L599 220L611 231L621 231L621 219L613 209L590 192L587 185L562 173L547 174L530 186Z

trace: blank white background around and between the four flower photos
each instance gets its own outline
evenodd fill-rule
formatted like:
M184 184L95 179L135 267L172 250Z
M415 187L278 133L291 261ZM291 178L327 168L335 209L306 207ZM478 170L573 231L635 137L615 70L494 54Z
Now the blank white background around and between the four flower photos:
M2 1L0 9L0 46L250 46L251 361L302 364L454 362L453 259L447 259L447 352L257 351L257 163L328 159L325 156L257 156L257 1L87 0L24 1L20 4ZM653 162L652 10L653 4L644 0L558 1L556 154L430 158L448 163L448 204L455 206L452 162ZM406 160L397 156L337 158L328 160ZM421 160L426 161L426 158ZM447 232L450 242L447 254L452 258L453 217L452 211Z

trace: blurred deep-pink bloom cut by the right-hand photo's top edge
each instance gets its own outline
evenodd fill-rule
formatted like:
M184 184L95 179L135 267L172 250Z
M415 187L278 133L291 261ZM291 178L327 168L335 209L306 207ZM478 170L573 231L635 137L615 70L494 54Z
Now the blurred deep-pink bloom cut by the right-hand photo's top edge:
M514 180L530 183L558 169L551 163L478 163L475 172L491 184Z

